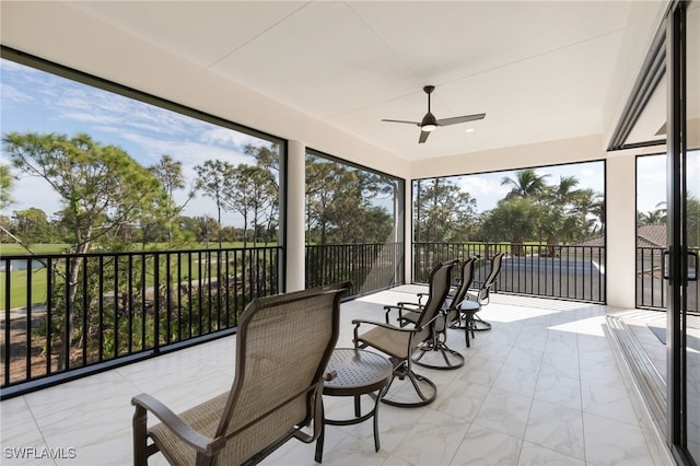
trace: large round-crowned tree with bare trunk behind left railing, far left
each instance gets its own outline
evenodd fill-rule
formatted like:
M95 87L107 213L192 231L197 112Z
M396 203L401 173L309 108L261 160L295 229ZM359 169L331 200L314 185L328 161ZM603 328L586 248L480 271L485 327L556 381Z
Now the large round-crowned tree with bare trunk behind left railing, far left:
M56 133L8 133L3 145L15 168L43 178L63 205L63 215L71 231L71 252L63 277L67 292L66 322L73 331L75 295L82 258L93 243L107 237L125 224L139 220L163 206L166 195L161 183L127 152L116 145L103 145L85 133L72 138ZM65 341L70 345L70 341Z

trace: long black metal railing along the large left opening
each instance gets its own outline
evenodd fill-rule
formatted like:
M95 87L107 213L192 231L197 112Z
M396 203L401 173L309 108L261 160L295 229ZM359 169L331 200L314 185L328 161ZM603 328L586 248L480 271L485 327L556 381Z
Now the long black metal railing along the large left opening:
M280 251L0 256L2 397L233 333Z

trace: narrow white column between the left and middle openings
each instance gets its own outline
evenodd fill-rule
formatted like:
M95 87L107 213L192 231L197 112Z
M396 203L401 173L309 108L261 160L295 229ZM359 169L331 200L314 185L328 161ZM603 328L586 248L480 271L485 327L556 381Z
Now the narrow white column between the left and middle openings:
M304 289L306 145L289 141L287 165L287 291Z

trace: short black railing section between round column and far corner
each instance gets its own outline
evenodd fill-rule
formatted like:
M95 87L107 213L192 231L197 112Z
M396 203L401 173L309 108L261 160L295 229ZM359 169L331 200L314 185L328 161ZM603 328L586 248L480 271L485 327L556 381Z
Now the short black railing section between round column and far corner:
M349 295L404 283L404 243L306 246L306 288L345 280Z

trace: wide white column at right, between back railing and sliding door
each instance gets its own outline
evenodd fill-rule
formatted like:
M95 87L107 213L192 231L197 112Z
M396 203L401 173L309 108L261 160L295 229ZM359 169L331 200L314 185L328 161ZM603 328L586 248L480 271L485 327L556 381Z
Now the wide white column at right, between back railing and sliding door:
M606 268L607 303L634 308L637 269L635 158L610 156L606 170Z

